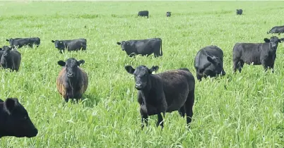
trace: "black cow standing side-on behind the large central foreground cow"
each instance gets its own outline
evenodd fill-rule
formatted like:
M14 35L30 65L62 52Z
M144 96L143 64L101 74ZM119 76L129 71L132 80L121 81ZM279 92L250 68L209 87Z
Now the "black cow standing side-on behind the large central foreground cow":
M162 56L162 39L160 38L128 40L117 42L117 44L121 45L122 51L126 51L130 57L135 54L150 56L153 53L155 57Z

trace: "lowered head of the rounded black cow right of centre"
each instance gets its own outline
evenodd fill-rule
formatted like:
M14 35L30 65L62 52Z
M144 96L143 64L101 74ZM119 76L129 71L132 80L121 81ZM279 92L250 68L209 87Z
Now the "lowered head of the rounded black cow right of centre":
M208 69L219 75L223 70L223 62L221 58L215 56L207 56L207 60L210 62L208 63L208 66L210 66L208 67Z

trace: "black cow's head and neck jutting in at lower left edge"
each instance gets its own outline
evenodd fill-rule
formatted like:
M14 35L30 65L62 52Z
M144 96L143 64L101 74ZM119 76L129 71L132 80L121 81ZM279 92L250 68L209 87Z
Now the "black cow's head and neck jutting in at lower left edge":
M37 128L30 121L28 112L18 102L17 98L0 99L0 138L13 137L35 137Z

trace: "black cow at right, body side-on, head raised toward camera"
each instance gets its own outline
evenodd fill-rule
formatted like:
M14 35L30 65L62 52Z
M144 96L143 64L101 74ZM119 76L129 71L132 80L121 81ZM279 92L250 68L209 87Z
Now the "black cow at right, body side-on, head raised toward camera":
M265 43L236 43L232 49L232 61L234 72L242 71L244 63L253 65L262 65L266 71L272 68L274 72L274 61L276 59L276 50L278 43L283 42L284 38L271 37L271 39L264 38Z

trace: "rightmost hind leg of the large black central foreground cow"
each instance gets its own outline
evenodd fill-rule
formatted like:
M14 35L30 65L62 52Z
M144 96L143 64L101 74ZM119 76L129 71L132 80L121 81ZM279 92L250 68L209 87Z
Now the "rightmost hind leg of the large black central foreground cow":
M185 113L187 113L187 127L190 128L191 118L194 115L194 112L192 111L192 108L194 106L194 90L191 90L189 92L189 95L187 96L187 101L185 101Z

